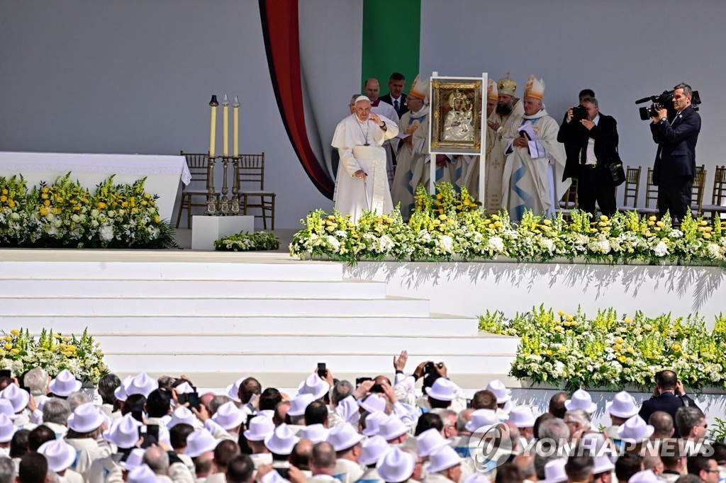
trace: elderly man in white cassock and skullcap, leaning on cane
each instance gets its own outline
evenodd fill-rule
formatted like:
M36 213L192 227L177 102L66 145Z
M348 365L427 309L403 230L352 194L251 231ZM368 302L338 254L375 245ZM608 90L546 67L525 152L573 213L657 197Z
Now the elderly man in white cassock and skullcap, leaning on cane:
M335 179L335 209L356 222L364 211L393 211L383 142L399 133L392 120L370 110L370 99L359 96L354 113L335 128L333 143L340 154Z

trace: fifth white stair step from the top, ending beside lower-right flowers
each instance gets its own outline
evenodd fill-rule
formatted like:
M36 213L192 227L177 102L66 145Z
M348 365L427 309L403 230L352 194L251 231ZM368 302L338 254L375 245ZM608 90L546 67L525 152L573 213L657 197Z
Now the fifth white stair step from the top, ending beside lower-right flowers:
M301 331L305 332L305 331ZM347 354L357 350L370 355L393 355L401 350L409 354L428 354L433 356L450 354L452 350L464 354L489 355L492 353L516 352L519 339L516 337L362 337L298 335L250 336L248 334L179 334L172 332L162 335L124 334L123 336L98 336L104 352L153 354L159 350L174 351L178 354L198 352L200 347L213 348L215 352L275 352L280 355L299 354Z

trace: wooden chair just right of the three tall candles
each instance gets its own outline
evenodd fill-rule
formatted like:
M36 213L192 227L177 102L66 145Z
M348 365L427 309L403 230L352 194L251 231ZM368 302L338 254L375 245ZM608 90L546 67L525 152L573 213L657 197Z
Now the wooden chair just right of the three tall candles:
M261 210L262 225L267 229L267 216L272 220L271 229L274 230L274 191L265 189L265 153L262 154L240 154L239 178L240 183L240 205L242 214L247 215L250 209ZM244 189L245 184L252 184L258 189ZM251 200L250 200L251 199ZM258 199L258 201L255 201Z

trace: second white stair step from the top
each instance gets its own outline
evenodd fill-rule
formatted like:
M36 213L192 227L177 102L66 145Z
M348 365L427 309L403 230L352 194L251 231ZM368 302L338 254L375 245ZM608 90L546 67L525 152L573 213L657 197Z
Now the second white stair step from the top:
M4 297L33 297L53 294L54 297L195 297L242 298L346 298L376 299L386 297L386 284L375 281L290 281L290 280L145 280L145 279L12 279L0 278L0 294Z

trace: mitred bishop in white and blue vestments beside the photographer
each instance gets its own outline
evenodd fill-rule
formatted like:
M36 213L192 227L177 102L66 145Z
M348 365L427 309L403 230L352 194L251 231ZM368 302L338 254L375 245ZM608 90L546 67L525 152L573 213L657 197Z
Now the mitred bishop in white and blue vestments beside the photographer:
M521 220L524 210L552 215L555 200L563 196L570 183L569 178L559 181L565 168L565 149L557 141L560 126L544 109L543 94L544 82L531 75L524 91L521 126L502 139L507 155L502 207L507 208L513 221ZM521 131L528 136L521 136Z

